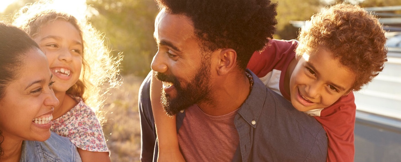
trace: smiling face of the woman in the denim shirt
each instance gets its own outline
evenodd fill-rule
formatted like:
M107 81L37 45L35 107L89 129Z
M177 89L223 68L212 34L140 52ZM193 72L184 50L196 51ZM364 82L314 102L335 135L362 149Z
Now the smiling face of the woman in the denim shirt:
M2 135L5 140L45 141L53 107L59 105L46 56L39 49L30 50L17 73L0 100Z

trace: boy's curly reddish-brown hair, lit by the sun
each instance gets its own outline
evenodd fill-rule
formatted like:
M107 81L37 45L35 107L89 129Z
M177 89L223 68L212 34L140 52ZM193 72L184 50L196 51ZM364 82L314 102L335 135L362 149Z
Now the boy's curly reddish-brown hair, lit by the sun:
M385 31L363 8L336 4L312 16L301 29L296 57L326 49L355 74L350 90L358 91L383 70L387 61Z

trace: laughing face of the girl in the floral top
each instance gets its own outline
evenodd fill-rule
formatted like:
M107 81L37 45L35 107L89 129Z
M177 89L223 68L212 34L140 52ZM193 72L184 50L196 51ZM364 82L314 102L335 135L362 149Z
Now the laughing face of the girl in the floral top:
M79 31L67 21L50 21L34 40L49 59L54 91L67 91L81 74L83 43Z

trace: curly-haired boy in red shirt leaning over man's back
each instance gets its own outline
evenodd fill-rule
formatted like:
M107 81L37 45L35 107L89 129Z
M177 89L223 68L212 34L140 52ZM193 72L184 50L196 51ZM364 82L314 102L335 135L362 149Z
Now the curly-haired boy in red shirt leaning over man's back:
M337 4L312 16L302 28L299 45L271 40L265 51L253 54L247 68L322 124L328 136L327 161L353 161L356 106L351 91L383 70L384 33L377 18L359 6ZM175 121L164 115L159 103L160 89L161 83L152 78L158 159L183 161Z

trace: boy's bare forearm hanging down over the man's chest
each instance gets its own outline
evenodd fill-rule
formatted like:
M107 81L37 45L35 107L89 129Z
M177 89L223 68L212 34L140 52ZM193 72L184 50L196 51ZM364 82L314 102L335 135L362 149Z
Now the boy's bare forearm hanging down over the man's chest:
M160 104L162 82L154 78L150 81L150 102L156 134L158 139L158 162L185 162L178 147L176 120L174 117L168 117Z

